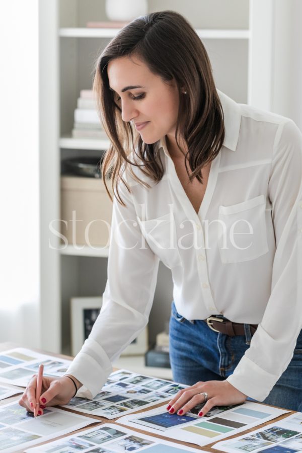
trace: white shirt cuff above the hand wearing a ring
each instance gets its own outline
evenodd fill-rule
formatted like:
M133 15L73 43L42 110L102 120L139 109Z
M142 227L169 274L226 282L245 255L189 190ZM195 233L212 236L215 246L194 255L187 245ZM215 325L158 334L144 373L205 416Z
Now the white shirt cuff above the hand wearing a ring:
M226 381L248 397L263 401L278 379L278 375L268 373L244 355Z

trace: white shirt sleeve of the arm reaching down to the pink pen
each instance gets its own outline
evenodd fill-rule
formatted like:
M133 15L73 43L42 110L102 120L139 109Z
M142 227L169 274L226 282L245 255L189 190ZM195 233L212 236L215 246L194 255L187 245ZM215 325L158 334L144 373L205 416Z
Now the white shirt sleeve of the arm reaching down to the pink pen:
M114 199L102 309L68 368L84 385L79 395L88 398L101 390L111 362L146 326L157 281L159 259L143 241L132 195L122 184L119 192L125 206Z

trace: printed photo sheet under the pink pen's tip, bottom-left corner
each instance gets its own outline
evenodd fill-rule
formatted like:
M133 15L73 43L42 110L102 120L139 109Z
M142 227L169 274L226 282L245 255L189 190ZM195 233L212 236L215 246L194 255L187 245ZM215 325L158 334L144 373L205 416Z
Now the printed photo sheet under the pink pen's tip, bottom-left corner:
M23 449L95 422L95 419L52 407L34 418L32 412L27 412L17 402L6 404L0 406L0 451L9 453Z

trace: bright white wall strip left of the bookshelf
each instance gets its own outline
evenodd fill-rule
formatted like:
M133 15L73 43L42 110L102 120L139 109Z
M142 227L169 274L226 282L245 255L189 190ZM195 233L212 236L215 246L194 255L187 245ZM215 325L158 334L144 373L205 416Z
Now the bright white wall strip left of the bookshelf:
M38 346L38 0L0 16L0 342Z

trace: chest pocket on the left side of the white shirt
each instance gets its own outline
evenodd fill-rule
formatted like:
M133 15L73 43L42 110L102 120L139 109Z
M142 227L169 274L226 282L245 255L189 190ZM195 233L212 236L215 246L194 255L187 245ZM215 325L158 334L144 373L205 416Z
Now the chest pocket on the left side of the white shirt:
M181 257L177 247L175 220L172 213L161 217L140 220L141 233L150 249L161 259L165 266L172 269L181 265Z

